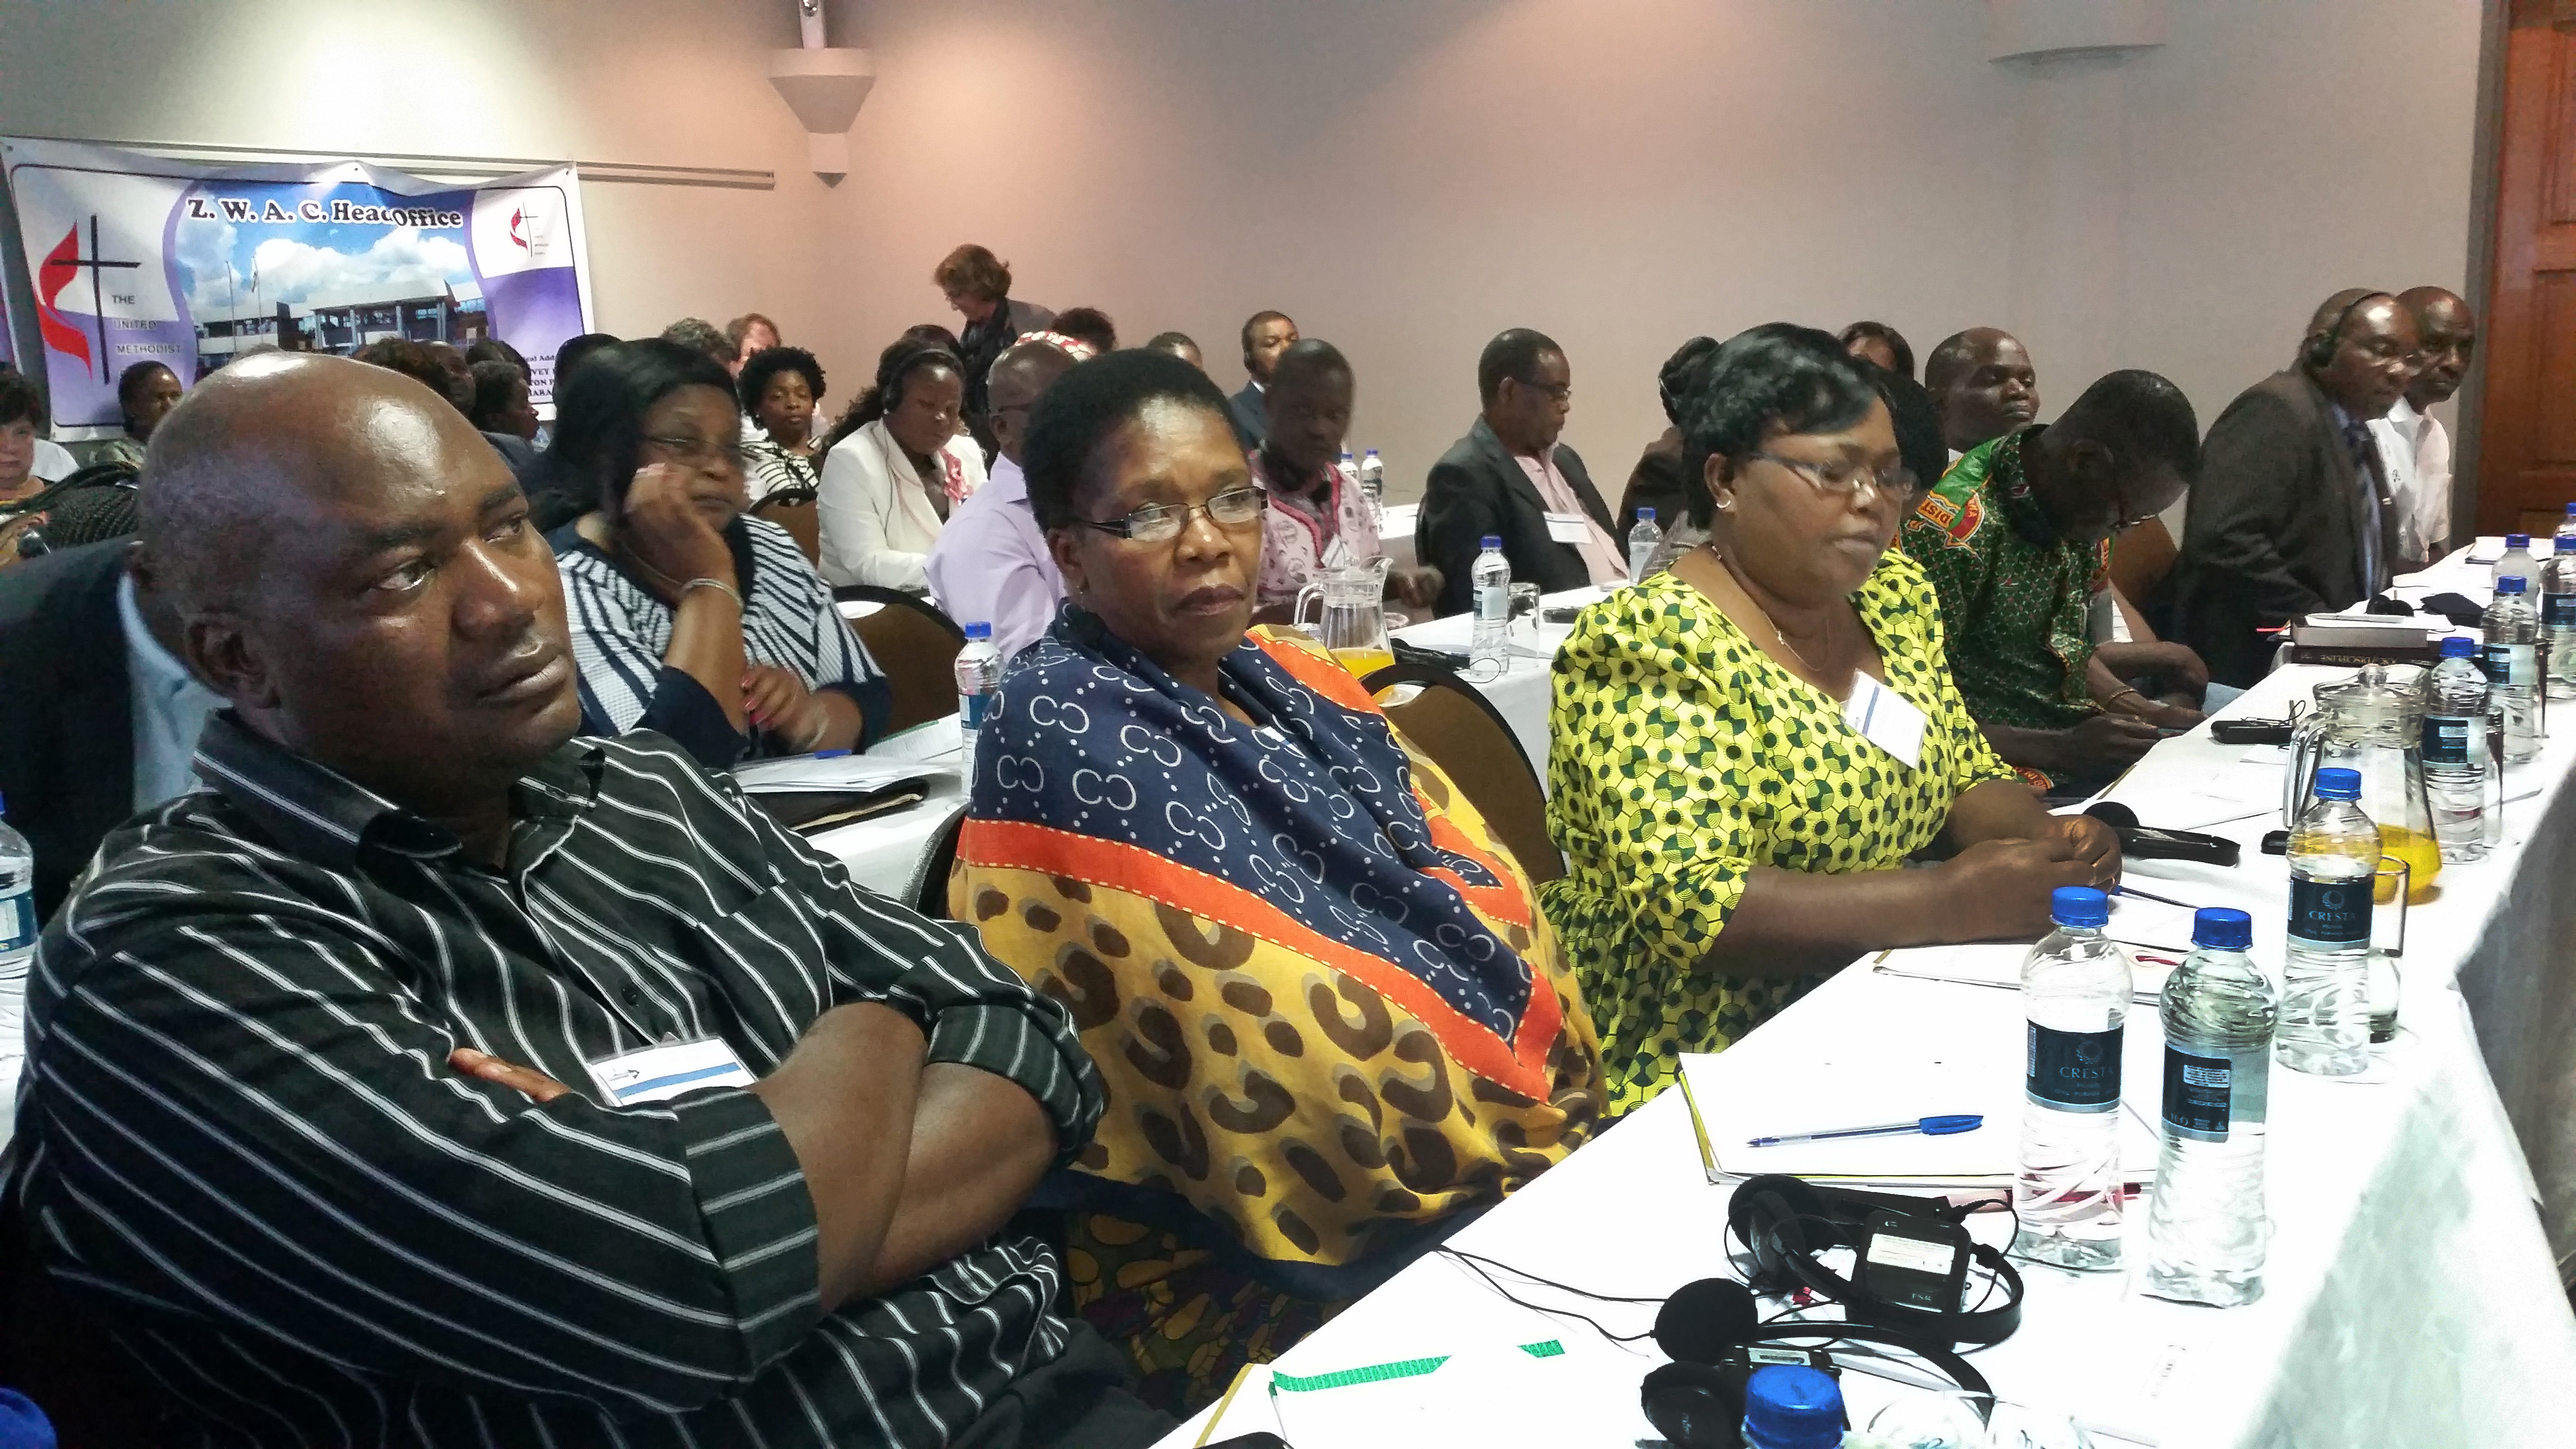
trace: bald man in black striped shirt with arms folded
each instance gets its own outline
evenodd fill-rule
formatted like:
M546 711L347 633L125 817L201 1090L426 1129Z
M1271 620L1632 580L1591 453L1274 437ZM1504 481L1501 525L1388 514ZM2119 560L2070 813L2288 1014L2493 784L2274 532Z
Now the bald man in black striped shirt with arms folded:
M670 743L572 740L554 557L453 407L252 358L147 472L232 709L44 936L18 1207L196 1441L1167 1426L1005 1230L1100 1114L1064 1008Z

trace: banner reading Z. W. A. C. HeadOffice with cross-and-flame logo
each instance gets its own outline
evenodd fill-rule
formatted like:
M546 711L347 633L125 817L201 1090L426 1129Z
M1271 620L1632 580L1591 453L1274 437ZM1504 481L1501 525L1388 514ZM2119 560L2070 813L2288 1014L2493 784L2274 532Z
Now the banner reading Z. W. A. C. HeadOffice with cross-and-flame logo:
M57 436L121 425L139 361L196 382L252 348L500 338L554 415L554 353L590 330L574 168L459 186L355 160L193 165L0 139ZM13 258L15 260L15 258Z

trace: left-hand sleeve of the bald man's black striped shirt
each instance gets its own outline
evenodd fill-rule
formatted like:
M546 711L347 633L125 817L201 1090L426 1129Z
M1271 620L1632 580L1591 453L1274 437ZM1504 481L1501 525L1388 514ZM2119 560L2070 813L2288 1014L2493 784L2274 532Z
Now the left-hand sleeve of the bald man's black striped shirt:
M358 926L100 946L52 982L21 1119L75 1289L611 1415L711 1403L817 1323L814 1207L750 1091L605 1111L471 1080L453 1047L513 1044L417 1016Z

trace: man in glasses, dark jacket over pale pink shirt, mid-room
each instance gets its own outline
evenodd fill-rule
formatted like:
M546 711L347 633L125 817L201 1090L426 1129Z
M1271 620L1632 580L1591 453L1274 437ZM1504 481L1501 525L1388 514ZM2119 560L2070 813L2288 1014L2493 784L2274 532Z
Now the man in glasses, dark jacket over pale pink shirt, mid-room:
M1564 348L1512 327L1476 358L1476 392L1484 415L1432 464L1414 521L1414 557L1443 575L1440 614L1476 603L1471 570L1486 536L1502 539L1512 583L1535 583L1543 593L1625 580L1610 508L1584 459L1556 441L1574 394ZM1582 541L1558 541L1551 513L1564 536Z

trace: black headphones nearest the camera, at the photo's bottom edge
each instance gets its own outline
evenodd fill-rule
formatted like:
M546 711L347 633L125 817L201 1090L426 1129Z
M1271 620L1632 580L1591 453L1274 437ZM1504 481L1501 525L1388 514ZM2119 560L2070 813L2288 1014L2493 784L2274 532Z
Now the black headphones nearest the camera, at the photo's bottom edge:
M1646 1423L1677 1449L1739 1449L1744 1444L1744 1387L1752 1364L1726 1361L1728 1348L1793 1338L1850 1338L1888 1343L1940 1369L1965 1390L1978 1418L1994 1413L1994 1387L1965 1359L1901 1328L1868 1323L1759 1323L1754 1294L1734 1279L1682 1284L1654 1315L1654 1346L1672 1364L1646 1374L1638 1408ZM1741 1359L1741 1356L1736 1356Z

